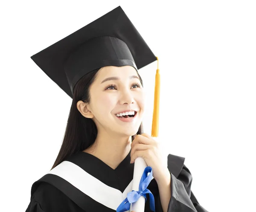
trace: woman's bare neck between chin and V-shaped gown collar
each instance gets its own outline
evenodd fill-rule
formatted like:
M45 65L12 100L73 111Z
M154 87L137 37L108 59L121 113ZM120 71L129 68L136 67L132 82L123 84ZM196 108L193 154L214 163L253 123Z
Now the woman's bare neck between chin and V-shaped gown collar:
M131 150L131 136L98 132L94 144L84 152L92 154L115 169Z

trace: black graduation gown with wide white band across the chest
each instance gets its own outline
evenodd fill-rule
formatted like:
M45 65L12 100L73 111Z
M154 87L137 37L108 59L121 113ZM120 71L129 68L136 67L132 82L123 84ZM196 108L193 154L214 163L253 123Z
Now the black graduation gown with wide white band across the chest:
M130 152L131 153L131 152ZM132 190L134 163L130 153L115 169L99 158L79 151L32 184L26 212L114 212ZM171 199L168 212L207 212L191 191L192 175L185 158L168 155ZM163 212L153 178L147 187L154 195L155 211ZM145 212L150 212L149 195Z

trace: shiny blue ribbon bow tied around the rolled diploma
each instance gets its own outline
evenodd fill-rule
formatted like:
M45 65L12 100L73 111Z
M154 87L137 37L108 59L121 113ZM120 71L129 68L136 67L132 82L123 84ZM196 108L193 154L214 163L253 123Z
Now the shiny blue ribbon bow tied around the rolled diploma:
M148 174L148 172L150 172ZM125 200L122 201L122 203L117 207L116 212L125 212L130 210L131 203L136 202L140 196L145 197L147 201L146 194L149 194L150 198L150 209L151 211L155 212L155 205L154 205L154 195L147 189L148 184L153 178L152 168L150 166L147 166L144 169L144 172L142 174L142 177L140 179L140 185L139 185L139 191L132 190L127 194L127 197Z

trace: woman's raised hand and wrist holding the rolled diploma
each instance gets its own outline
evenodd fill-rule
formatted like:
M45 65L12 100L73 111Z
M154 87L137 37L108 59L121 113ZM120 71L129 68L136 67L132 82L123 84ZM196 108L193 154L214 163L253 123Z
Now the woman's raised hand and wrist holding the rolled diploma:
M151 166L157 182L166 179L170 174L167 163L164 163L161 156L158 142L148 134L137 135L131 143L131 163L134 163L137 157L142 157L147 165Z

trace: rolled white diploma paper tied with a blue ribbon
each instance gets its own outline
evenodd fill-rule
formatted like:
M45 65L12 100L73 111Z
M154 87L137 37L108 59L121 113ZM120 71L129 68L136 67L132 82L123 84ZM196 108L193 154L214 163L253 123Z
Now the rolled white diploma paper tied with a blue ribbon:
M147 163L142 157L137 157L134 161L134 177L133 177L133 184L132 190L139 191L140 180L144 169L147 167ZM144 212L145 209L145 197L141 196L137 202L131 203L131 211L135 212Z

